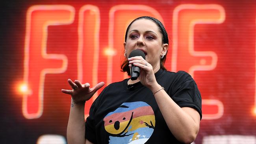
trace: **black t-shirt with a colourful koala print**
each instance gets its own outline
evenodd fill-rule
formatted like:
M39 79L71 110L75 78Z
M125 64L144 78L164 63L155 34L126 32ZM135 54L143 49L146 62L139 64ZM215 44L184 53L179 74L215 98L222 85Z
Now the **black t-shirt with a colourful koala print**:
M189 74L160 69L155 76L174 102L196 109L202 118L201 95ZM140 82L128 86L127 81L111 83L96 98L85 122L85 137L94 144L181 144L151 90Z

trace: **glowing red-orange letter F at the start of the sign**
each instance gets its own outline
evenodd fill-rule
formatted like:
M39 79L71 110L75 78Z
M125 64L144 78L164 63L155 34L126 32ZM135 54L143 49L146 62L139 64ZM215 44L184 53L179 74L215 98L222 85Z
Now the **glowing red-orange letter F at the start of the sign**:
M71 24L74 13L74 7L67 5L32 6L28 9L24 83L30 92L24 94L22 102L22 112L26 118L39 118L43 113L45 75L67 70L68 59L65 55L46 53L47 28L50 25Z

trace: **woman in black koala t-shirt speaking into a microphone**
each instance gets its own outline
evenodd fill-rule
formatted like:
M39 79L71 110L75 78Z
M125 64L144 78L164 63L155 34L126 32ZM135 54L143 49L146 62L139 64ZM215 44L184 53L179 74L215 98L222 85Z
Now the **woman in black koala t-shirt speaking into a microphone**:
M126 30L124 55L127 58L139 49L146 59L128 58L121 68L130 75L131 66L138 66L139 78L108 85L93 102L85 124L84 103L104 83L90 88L89 83L82 85L69 79L73 90L62 90L72 96L67 127L69 144L193 142L202 118L200 92L186 72L165 69L168 48L168 35L159 20L139 17L132 21Z

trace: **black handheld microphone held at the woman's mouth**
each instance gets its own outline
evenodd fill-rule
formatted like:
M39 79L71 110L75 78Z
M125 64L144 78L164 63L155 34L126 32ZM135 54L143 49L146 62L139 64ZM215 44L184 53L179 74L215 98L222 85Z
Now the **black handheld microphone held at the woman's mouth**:
M145 57L146 57L144 52L139 50L139 49L133 50L131 52L131 54L129 55L129 58L130 57L135 57L135 56L142 56L143 59L145 59ZM132 65L132 68L131 68L131 79L132 79L132 81L136 80L139 77L139 72L140 72L139 67Z

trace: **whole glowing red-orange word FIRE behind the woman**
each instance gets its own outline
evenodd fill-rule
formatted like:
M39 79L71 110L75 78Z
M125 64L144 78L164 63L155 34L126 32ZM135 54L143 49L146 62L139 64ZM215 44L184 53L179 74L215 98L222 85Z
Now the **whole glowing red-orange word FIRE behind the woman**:
M24 82L28 90L23 96L22 112L28 119L39 118L43 113L45 74L58 74L67 70L68 59L61 54L47 54L47 27L50 25L72 24L75 10L67 5L32 6L27 12ZM144 5L117 5L109 11L107 84L127 78L119 71L124 33L128 24L136 17L148 15L164 22L160 13ZM219 5L184 4L173 12L172 71L185 70L192 76L196 70L213 70L217 65L214 52L197 52L193 48L195 24L220 24L225 19L223 7ZM184 32L185 31L185 32ZM85 5L78 15L77 79L96 85L98 83L100 11L98 7ZM187 58L186 64L182 59ZM113 63L115 62L115 63ZM118 62L118 63L117 63ZM35 65L42 63L43 65ZM65 78L63 78L65 79ZM96 93L85 107L85 117ZM223 115L223 104L218 100L202 100L205 119L215 119Z

